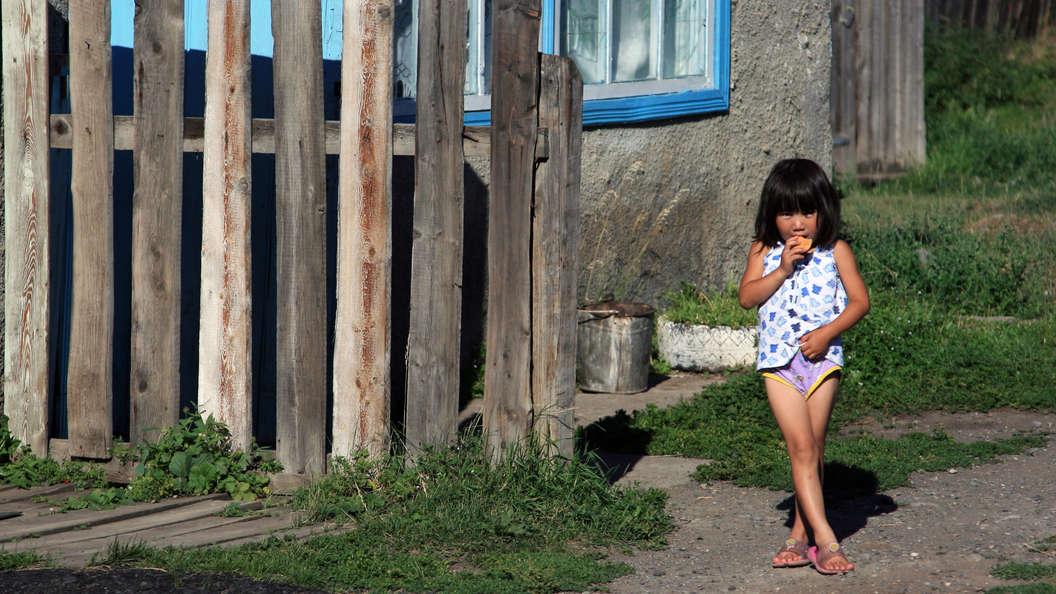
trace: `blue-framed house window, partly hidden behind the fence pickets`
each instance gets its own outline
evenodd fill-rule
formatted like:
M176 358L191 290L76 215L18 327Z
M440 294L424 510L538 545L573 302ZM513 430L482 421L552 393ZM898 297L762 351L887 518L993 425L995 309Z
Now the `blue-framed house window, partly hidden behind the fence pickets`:
M397 115L414 113L418 0L396 0ZM583 76L584 124L730 107L730 0L544 0L543 52ZM491 0L469 0L466 123L486 124Z

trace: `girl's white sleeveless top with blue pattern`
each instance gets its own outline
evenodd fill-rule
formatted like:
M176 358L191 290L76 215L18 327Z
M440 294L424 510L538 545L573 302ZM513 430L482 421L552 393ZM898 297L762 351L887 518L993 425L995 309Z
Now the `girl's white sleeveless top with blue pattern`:
M781 265L784 244L763 259L763 276ZM777 273L780 274L780 273ZM799 338L836 319L847 307L847 291L840 280L831 247L818 247L795 264L792 275L759 304L759 356L756 369L781 367L799 350ZM842 336L829 342L825 358L843 367Z

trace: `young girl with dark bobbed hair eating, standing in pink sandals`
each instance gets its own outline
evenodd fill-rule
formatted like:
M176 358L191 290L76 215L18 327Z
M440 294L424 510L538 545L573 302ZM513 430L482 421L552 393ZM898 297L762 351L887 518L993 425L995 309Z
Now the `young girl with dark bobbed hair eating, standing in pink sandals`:
M792 534L775 568L813 563L849 572L825 517L825 433L844 364L840 335L869 312L854 255L836 239L840 198L813 161L774 166L762 186L755 238L740 281L741 307L759 307L759 354L767 397L785 437L795 486ZM810 535L815 546L808 549Z

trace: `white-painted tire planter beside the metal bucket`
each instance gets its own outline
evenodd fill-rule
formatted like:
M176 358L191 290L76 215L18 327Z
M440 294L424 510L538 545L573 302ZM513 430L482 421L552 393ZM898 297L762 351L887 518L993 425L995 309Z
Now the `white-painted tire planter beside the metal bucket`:
M722 371L755 364L756 330L728 326L691 326L661 319L657 322L660 354L682 371Z

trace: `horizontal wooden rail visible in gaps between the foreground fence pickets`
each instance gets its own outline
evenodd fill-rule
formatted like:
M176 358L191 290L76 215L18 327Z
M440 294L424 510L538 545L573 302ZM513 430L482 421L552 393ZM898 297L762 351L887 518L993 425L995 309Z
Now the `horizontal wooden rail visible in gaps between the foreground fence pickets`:
M73 147L74 115L52 114L52 148ZM132 150L132 116L114 116L114 150ZM327 119L323 126L326 136L326 154L341 152L341 122ZM491 127L466 126L463 128L463 152L466 156L491 156ZM275 152L275 119L258 118L252 123L252 146L256 153ZM205 119L184 118L184 152L205 150ZM393 154L414 156L414 124L393 125ZM535 159L546 159L547 131L540 129L535 138Z

